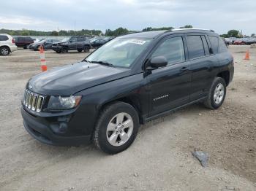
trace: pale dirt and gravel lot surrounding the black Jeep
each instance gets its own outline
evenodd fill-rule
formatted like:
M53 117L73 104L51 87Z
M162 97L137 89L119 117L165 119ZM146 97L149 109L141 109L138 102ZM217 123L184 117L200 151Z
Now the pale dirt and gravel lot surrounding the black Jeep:
M19 109L27 80L39 73L39 52L0 57L0 190L256 190L256 49L244 61L248 48L230 46L236 71L220 109L195 104L148 122L118 155L31 138ZM85 56L46 52L48 68ZM194 149L208 152L208 167Z

